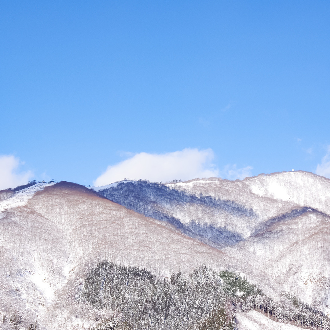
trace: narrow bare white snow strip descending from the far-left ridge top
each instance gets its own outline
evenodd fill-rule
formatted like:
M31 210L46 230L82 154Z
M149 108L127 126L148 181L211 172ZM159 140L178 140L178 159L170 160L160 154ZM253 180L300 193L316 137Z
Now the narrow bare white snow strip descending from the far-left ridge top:
M43 190L45 187L51 186L53 184L55 184L55 182L36 183L30 187L14 192L12 197L0 201L0 212L9 208L25 205L37 191Z

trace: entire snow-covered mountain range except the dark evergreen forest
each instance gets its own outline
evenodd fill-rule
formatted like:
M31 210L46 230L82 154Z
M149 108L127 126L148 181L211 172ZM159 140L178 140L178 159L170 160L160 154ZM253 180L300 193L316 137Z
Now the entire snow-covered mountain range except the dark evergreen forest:
M330 312L330 180L312 173L93 189L39 183L1 191L0 207L3 328L91 329L113 317L77 299L102 260L160 279L200 265L238 271L272 299L285 291ZM238 329L253 322L295 328L238 312Z

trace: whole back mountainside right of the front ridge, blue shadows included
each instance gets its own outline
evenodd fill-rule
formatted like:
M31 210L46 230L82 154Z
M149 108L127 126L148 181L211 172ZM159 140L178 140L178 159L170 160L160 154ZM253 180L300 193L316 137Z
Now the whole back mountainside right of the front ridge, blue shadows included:
M98 191L220 248L231 269L269 294L288 291L330 312L329 179L296 171L234 182L121 182Z

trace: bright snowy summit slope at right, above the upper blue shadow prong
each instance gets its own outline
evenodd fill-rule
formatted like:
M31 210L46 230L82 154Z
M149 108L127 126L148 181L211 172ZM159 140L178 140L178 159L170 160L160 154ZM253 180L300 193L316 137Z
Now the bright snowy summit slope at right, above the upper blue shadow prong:
M330 215L330 179L310 172L259 174L234 182L220 178L196 179L167 186L195 195L234 200L264 218L277 215L280 207L286 210L296 205L309 206Z

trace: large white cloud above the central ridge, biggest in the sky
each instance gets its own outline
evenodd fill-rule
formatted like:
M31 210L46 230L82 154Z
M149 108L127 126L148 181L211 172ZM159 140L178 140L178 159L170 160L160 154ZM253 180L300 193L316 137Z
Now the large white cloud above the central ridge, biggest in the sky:
M164 154L141 152L107 170L95 181L95 186L102 186L123 180L147 179L152 182L189 180L218 176L218 170L212 164L212 149L183 149Z

